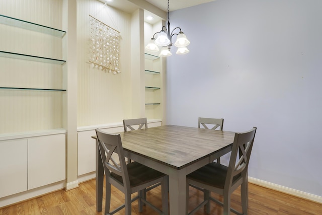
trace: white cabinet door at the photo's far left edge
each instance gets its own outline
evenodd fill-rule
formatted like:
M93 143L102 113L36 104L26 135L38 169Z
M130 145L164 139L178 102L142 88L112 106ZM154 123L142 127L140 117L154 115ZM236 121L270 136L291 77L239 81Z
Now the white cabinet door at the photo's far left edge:
M27 190L27 139L0 142L0 198Z

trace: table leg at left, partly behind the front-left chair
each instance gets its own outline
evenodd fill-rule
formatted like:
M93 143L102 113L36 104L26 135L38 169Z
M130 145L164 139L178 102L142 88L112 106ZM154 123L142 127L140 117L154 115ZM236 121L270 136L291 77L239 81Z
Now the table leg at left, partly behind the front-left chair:
M102 211L104 167L99 144L96 140L96 210Z

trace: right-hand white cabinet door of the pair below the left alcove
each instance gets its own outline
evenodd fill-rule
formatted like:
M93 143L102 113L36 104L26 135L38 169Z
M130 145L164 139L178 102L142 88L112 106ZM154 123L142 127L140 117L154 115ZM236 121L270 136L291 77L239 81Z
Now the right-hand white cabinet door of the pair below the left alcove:
M65 180L65 134L28 139L28 189Z

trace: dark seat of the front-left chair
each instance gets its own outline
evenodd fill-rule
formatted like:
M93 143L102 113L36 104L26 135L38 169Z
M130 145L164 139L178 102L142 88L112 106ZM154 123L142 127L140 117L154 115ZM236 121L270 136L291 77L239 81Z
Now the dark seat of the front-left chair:
M137 162L132 162L126 165L129 174L131 187L146 184L157 178L165 176L164 173L153 170ZM111 172L111 176L123 184L122 177Z

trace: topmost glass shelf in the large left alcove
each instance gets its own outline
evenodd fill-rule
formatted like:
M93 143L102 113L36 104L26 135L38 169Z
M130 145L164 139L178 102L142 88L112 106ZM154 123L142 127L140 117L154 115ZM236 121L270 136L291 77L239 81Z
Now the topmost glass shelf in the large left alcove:
M66 34L65 31L61 31L61 30L58 30L55 28L50 28L50 27L47 27L44 25L39 25L39 24L32 23L32 22L27 22L24 20L15 19L12 17L7 17L4 15L0 15L0 23L5 24L5 25L10 25L13 27L36 31L36 32L44 33L44 34L49 34L49 35L57 36L57 37L63 37Z

